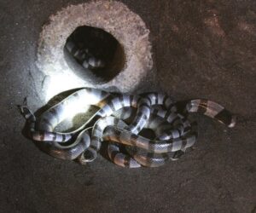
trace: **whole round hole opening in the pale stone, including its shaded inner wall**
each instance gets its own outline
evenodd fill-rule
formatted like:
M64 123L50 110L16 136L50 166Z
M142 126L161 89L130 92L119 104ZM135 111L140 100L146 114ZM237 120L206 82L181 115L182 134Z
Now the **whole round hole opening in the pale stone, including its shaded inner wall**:
M110 33L92 26L79 26L64 46L67 65L80 78L91 83L106 83L125 66L125 53Z

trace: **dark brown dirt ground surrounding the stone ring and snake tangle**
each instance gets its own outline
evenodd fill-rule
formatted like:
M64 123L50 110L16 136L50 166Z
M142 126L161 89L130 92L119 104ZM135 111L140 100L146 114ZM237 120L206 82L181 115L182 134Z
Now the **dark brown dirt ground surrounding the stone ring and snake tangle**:
M157 80L137 91L204 97L238 114L234 129L196 116L192 151L140 170L102 157L88 166L51 158L21 134L16 104L27 96L33 110L44 105L41 26L82 2L0 0L0 211L256 212L255 1L122 1L151 31Z

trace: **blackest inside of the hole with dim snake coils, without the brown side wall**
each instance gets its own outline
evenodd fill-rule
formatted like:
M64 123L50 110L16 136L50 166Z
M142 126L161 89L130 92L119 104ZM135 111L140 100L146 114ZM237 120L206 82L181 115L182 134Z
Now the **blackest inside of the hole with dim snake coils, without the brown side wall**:
M116 49L116 41L110 34L95 27L78 27L64 46L80 66L89 70L102 70L108 66Z

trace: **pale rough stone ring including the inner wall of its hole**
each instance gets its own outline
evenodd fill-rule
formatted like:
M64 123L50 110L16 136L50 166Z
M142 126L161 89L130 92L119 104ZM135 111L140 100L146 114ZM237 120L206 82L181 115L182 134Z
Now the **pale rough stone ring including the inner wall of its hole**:
M113 59L108 60L105 67L84 68L64 48L67 38L81 26L87 30L92 27L93 31L89 32L102 29L103 35L110 33L118 41ZM80 87L127 93L141 88L143 83L153 83L156 73L149 33L142 18L119 1L70 4L50 15L40 32L36 63L48 79L44 81L45 100ZM94 42L96 37L89 38L84 40L98 45Z

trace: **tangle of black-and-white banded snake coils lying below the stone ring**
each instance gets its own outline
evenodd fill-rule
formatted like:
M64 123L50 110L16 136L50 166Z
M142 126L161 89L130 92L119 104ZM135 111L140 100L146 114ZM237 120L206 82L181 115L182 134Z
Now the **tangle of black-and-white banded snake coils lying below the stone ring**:
M99 107L88 122L70 133L55 132L70 112L75 114L88 105ZM96 159L102 141L108 141L108 156L114 164L137 168L165 164L195 144L197 133L188 119L189 112L201 112L229 127L236 124L236 116L213 101L187 101L185 108L185 112L178 112L177 103L160 93L111 94L83 88L38 118L26 104L20 106L20 111L29 126L29 137L43 144L44 151L55 158L86 164ZM154 130L154 140L140 135L143 129Z

